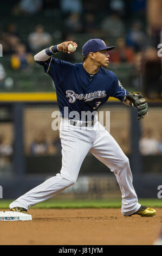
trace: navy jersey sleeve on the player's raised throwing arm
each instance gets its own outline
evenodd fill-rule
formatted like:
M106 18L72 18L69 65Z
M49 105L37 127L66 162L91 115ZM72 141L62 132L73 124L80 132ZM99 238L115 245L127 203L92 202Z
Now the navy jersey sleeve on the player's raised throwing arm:
M54 57L51 57L44 62L36 62L44 66L44 72L53 78L55 86L62 82L64 74L69 71L70 66L72 65L69 62L64 62L64 60L56 59Z

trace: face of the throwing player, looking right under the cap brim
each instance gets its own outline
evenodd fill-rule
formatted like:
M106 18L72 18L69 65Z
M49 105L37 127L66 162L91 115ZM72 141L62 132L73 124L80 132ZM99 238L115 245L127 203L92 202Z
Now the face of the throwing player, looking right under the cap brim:
M107 68L109 63L109 55L107 50L102 50L95 52L95 62L98 66L103 66L104 68Z

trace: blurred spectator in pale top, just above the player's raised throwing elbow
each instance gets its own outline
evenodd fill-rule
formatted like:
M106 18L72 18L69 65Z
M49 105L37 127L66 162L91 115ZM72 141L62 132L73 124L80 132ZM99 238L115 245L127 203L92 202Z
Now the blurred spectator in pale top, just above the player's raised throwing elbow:
M43 50L43 48L49 47L52 37L49 33L44 32L42 25L35 27L35 32L30 33L28 36L29 46L32 51Z

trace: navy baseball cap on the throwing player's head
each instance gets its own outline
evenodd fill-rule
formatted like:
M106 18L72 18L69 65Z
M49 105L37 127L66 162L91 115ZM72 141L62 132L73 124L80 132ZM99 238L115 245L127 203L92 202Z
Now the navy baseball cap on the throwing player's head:
M115 46L107 47L105 42L101 39L90 39L87 41L82 47L82 54L83 56L88 55L89 52L98 52L102 50L113 50Z

